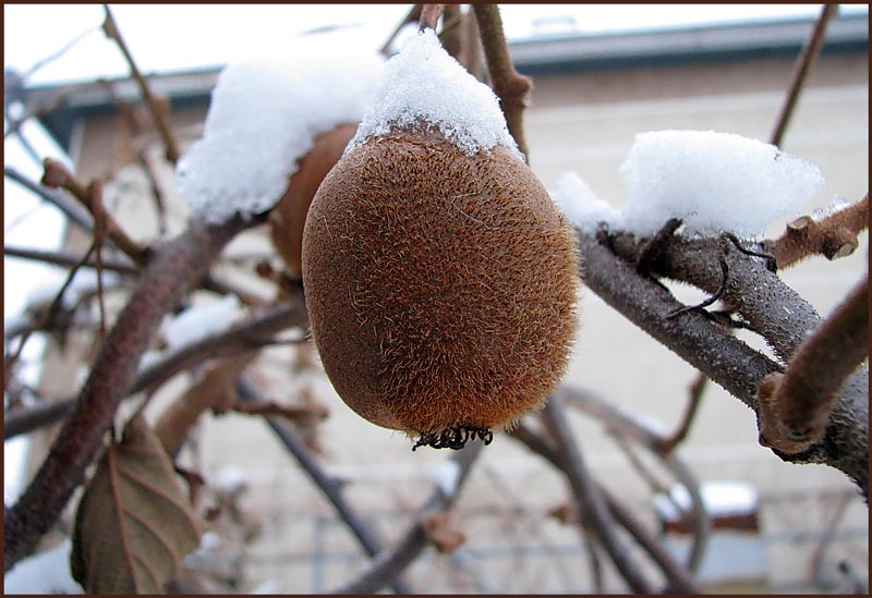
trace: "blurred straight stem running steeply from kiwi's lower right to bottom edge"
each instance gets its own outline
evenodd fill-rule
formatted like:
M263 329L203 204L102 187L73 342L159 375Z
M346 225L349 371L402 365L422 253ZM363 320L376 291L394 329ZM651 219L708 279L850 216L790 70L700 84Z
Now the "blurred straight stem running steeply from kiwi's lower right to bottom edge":
M565 472L578 501L579 513L588 528L605 548L630 589L635 594L653 594L654 588L630 554L629 547L616 534L617 528L611 512L603 499L600 486L588 471L567 422L561 401L559 395L549 396L545 408L542 410L542 418L550 430L558 453L562 455Z

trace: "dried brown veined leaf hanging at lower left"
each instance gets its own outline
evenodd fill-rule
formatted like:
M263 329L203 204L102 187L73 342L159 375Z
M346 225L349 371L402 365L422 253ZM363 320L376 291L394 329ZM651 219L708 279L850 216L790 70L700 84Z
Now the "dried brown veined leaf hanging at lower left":
M78 504L70 565L87 594L162 594L201 526L142 417L99 463Z

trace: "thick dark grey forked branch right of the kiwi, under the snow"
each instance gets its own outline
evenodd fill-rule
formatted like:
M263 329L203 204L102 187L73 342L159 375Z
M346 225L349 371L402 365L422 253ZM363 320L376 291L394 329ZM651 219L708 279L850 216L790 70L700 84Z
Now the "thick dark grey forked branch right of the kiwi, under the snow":
M714 382L758 412L756 386L782 366L739 341L713 319L693 312L680 318L667 315L680 304L651 278L640 277L632 265L640 244L627 233L600 235L602 243L579 233L583 279L588 286L627 319L665 344ZM765 265L739 251L728 251L723 240L680 236L651 264L651 271L714 292L722 283L720 257L729 263L730 278L723 301L747 318L785 362L814 330L814 309ZM824 439L798 454L775 451L785 461L825 463L869 489L869 373L858 369L843 386L833 407ZM759 415L759 414L758 414Z

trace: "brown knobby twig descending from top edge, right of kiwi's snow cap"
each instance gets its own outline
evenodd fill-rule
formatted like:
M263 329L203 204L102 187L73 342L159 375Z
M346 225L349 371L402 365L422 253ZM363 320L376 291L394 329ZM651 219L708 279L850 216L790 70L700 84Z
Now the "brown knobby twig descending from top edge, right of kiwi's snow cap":
M491 85L499 98L500 108L506 115L509 133L514 137L518 149L528 157L530 151L524 138L523 111L529 102L533 81L514 70L509 56L509 45L502 32L502 19L497 4L472 4L479 30L482 36L484 56L487 59L487 71Z

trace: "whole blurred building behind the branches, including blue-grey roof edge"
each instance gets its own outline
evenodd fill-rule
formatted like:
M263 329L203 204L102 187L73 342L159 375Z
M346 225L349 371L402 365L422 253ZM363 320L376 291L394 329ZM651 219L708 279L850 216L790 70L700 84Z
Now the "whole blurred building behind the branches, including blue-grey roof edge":
M768 141L812 24L809 19L787 19L583 34L571 20L540 23L534 36L510 47L518 70L534 81L525 113L532 168L549 188L562 173L576 172L598 196L619 205L623 185L618 168L637 133L715 130ZM856 200L868 191L868 14L832 21L784 138L786 151L816 164L826 179L809 211L825 208L836 196ZM170 100L183 145L202 132L217 74L208 69L149 76L153 89ZM158 234L148 198L152 183L142 169L131 166L129 134L114 101L136 105L135 84L119 80L20 93L25 108L37 113L66 149L82 179L117 179L107 197L122 225L142 240ZM155 157L160 146L156 137L152 142L146 149ZM170 215L169 232L179 231L185 208L175 194L172 171L158 159L152 162ZM784 221L774 223L772 234L783 227ZM70 227L68 247L84 251L87 243L88 237ZM228 249L252 267L271 253L263 229L241 235ZM863 234L852 256L833 263L814 258L783 277L825 316L867 270L867 255ZM245 283L270 296L269 286L254 274ZM687 302L701 297L689 289L675 292ZM645 425L673 429L688 402L694 370L590 292L581 314L566 383L590 389ZM68 395L71 380L82 379L80 355L88 350L73 346L61 355L50 349L53 356L41 392ZM272 365L287 363L289 351L274 347L259 361L263 367L255 381L270 399L296 400L291 395L302 388L301 376ZM342 480L347 499L389 545L423 503L435 467L448 455L412 453L402 435L358 417L316 366L305 383L330 410L318 432L325 448L323 466ZM171 396L180 385L169 385L161 394ZM658 512L651 488L602 423L580 412L571 423L597 478L654 525ZM365 565L364 553L330 504L262 419L208 416L195 444L192 464L207 479L244 480L242 503L262 522L245 557L245 583L269 581L264 587L282 593L323 591ZM832 590L849 587L855 579L868 590L868 509L843 474L824 466L790 465L760 447L754 414L714 386L706 390L678 455L720 500L729 503L737 488L755 497L740 508L739 514L751 517L746 524L713 532L700 573L706 589ZM566 497L562 479L542 460L498 436L452 511L467 542L451 556L428 552L407 578L426 593L589 591L590 577L579 566L586 561L577 528L549 514ZM687 550L686 539L668 534L677 553ZM611 571L606 582L607 588L622 587Z

